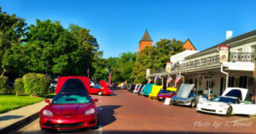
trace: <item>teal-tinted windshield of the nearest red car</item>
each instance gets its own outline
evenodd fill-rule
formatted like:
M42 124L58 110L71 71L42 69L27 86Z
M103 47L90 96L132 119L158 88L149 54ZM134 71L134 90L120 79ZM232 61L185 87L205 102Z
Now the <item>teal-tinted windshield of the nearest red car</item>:
M86 94L58 93L52 103L90 103L89 96Z

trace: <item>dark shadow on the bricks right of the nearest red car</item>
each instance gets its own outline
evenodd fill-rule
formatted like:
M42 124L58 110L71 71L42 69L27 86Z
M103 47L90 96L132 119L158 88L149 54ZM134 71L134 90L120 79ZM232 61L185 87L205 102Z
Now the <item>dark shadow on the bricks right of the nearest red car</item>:
M120 107L121 105L103 105L98 107L98 109L101 109L99 112L100 126L108 126L115 121L116 118L114 117L114 109L118 109Z

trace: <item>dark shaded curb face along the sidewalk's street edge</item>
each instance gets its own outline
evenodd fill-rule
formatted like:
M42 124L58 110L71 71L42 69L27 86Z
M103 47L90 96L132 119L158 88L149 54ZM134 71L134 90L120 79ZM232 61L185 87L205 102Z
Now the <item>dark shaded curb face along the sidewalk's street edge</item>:
M19 120L19 121L15 122L14 124L3 128L2 130L0 130L0 133L8 133L10 131L14 131L15 129L19 128L20 126L24 126L27 123L29 123L30 121L37 119L38 117L39 117L39 112L32 114L23 120Z

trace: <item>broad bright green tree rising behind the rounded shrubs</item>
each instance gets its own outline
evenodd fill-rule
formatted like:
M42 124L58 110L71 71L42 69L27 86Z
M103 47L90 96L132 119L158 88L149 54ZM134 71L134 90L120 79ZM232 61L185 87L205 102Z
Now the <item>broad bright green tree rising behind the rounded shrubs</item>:
M26 70L49 75L78 75L82 51L59 21L36 20L26 32Z

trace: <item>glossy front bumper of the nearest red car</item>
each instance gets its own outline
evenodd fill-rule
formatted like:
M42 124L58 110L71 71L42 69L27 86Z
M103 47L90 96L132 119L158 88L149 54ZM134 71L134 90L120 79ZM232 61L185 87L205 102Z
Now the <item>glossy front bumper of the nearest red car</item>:
M98 117L92 115L56 115L54 117L40 117L40 127L42 129L79 129L96 126Z

